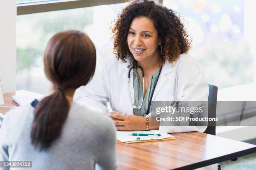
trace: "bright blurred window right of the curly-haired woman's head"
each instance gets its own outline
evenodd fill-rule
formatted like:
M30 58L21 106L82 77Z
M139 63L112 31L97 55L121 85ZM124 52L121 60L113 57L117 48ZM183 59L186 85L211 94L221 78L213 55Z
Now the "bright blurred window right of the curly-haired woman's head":
M184 17L183 23L192 37L189 53L202 65L208 83L223 88L253 82L255 42L250 37L254 32L246 28L254 23L246 22L253 16L246 15L248 2L164 0L163 5Z

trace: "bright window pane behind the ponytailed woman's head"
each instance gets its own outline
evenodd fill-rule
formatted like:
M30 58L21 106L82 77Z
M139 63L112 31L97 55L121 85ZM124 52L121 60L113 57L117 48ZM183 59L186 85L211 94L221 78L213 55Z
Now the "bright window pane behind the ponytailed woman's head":
M63 30L81 30L97 50L97 65L113 55L109 23L125 4L101 5L17 16L17 90L45 94L51 84L43 69L43 52L49 39ZM102 14L104 11L104 15ZM43 85L43 86L42 86Z

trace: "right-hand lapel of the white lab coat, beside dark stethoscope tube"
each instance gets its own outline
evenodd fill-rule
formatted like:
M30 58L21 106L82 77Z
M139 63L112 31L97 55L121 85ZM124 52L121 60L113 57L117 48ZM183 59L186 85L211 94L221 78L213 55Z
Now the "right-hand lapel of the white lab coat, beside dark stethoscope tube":
M166 61L163 65L162 71L160 73L158 82L156 84L156 88L152 97L152 100L155 100L156 95L159 93L160 90L168 90L166 88L162 88L164 83L166 82L166 79L168 78L168 74L174 70L174 66L169 63L169 61ZM166 91L167 92L167 91Z

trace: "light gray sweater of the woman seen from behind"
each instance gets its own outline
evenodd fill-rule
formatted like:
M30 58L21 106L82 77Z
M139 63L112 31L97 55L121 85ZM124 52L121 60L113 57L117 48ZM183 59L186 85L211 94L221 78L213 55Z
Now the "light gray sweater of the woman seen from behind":
M28 170L117 168L115 126L109 117L73 102L60 138L40 152L31 145L33 111L24 105L6 113L0 128L0 161L32 161Z

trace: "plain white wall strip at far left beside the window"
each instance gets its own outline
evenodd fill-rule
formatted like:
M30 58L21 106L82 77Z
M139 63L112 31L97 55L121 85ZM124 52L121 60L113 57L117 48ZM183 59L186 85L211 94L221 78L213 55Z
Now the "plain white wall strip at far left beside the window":
M0 2L0 78L3 92L16 87L16 1Z

